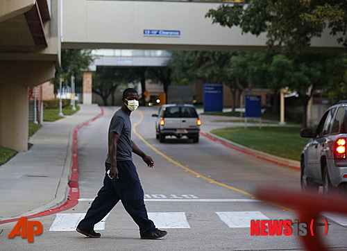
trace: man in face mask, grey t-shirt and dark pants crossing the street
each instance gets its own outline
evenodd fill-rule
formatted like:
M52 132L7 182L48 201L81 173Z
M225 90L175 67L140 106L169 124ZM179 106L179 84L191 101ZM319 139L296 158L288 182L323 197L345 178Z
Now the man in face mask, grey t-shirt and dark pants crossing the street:
M133 164L132 152L142 157L149 168L153 168L154 164L153 159L140 150L130 137L130 113L137 109L138 98L135 89L124 90L121 109L115 112L110 121L103 187L92 202L85 218L76 228L77 232L85 236L92 238L101 236L94 231L94 225L99 223L119 200L139 226L141 239L158 239L167 235L166 231L155 228L153 221L147 216L144 191Z

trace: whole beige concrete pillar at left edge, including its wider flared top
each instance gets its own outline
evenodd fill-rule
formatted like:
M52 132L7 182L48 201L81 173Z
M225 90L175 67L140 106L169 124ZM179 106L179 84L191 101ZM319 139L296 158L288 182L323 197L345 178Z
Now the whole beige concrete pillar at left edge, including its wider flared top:
M28 150L28 85L54 77L55 62L0 61L0 146Z

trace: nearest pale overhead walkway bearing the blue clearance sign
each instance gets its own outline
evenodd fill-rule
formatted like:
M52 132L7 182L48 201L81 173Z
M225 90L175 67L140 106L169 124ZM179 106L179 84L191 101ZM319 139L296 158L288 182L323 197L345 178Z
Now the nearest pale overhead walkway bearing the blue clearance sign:
M76 49L228 50L266 49L266 35L242 34L205 18L221 4L210 1L62 2L62 47ZM312 40L311 51L341 51L329 33Z

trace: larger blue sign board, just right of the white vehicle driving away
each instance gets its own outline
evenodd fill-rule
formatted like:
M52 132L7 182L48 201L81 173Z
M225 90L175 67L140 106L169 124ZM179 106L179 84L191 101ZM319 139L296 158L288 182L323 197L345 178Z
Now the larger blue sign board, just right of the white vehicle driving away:
M223 85L203 84L203 110L205 112L223 112Z

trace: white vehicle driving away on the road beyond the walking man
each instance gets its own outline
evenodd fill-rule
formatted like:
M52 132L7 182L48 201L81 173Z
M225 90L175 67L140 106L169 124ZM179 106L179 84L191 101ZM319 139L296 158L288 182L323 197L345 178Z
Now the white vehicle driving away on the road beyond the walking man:
M180 137L186 136L198 143L201 120L194 105L162 105L159 109L158 119L155 121L155 132L160 142L165 142L169 135Z

